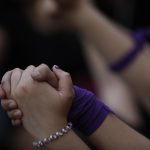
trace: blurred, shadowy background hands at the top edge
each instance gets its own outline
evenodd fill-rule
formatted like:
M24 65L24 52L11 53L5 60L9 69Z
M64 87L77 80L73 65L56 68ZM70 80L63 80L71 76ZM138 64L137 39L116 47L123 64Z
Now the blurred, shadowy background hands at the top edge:
M72 27L72 15L88 0L36 0L29 4L28 15L32 24L41 31Z

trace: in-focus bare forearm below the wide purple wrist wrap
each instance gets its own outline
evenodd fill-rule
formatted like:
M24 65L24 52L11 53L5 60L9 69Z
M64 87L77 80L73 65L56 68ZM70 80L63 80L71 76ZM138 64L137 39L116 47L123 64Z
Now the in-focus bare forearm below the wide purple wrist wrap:
M113 115L109 115L100 128L90 137L97 149L149 150L150 141L128 127Z

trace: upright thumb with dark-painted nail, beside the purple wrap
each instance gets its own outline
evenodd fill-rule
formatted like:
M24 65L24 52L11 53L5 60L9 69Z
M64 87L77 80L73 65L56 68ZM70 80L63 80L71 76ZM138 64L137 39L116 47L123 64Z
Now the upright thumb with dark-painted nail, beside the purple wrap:
M71 76L68 72L61 70L58 66L53 66L53 71L59 79L59 91L64 96L73 97L73 86Z

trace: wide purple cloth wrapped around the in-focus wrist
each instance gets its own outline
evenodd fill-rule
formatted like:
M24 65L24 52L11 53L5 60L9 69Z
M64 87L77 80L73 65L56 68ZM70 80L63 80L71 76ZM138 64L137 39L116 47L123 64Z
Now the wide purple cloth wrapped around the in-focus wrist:
M82 133L89 136L103 123L112 112L97 97L86 89L74 86L75 98L68 120Z

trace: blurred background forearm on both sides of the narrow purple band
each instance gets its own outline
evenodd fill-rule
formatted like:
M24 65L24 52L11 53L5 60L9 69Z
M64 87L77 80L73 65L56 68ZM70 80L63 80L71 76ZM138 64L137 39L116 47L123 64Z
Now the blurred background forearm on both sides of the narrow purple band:
M108 65L120 60L134 47L135 42L128 32L108 20L92 6L84 5L73 16L72 19L82 37L96 46ZM148 51L149 46L145 46L134 62L120 72L135 92L144 99L150 99L150 54Z

